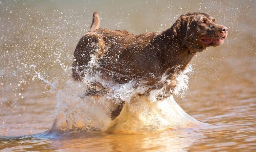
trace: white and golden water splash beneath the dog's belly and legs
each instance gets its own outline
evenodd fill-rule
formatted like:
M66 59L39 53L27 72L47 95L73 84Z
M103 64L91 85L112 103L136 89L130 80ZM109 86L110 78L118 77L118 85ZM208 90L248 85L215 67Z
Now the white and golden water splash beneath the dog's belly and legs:
M50 131L59 132L118 132L120 130L138 131L143 129L159 130L181 126L203 124L189 116L175 102L172 96L163 100L155 100L159 90L152 90L150 96L142 95L148 87L139 81L129 81L125 84L114 84L101 78L95 72L98 67L97 58L91 56L91 61L84 71L83 82L69 79L66 87L57 95L56 119ZM188 74L192 66L177 76L177 86L174 94L183 96L188 88ZM164 79L164 78L163 78ZM102 96L86 96L86 90L91 82L100 82L109 88ZM120 115L111 119L111 111L125 101Z

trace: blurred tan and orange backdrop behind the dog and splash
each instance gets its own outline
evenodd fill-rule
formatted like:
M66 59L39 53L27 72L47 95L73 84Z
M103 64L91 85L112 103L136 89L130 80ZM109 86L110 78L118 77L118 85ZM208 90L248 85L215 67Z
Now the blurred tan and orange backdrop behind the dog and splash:
M198 53L186 95L175 96L191 116L212 124L256 122L256 1L0 1L0 136L39 133L55 118L56 94L70 79L73 52L89 30L134 34L162 31L187 12L204 12L228 28L219 47ZM252 134L252 132L248 132ZM254 137L254 140L255 137Z

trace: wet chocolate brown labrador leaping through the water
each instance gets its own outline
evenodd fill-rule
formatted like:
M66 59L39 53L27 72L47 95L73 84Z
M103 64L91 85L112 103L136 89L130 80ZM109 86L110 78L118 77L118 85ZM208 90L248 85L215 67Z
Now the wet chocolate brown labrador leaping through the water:
M227 36L227 28L216 24L215 19L205 13L183 14L171 28L140 35L99 28L99 22L95 12L89 32L75 48L72 64L75 81L83 80L88 63L95 57L98 66L94 71L101 73L102 79L116 84L138 80L149 86L147 93L162 88L158 99L172 94L177 74L197 52L221 45ZM163 75L166 81L161 80ZM100 96L106 92L107 88L100 82L93 82L86 95ZM119 115L123 104L112 112L112 118Z

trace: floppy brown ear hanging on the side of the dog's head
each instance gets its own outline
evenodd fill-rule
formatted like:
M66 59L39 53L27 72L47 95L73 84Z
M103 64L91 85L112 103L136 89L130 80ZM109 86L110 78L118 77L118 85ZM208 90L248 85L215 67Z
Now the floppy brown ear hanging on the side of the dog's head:
M192 16L181 15L174 23L173 33L181 39L182 45L186 42L188 27L192 19Z

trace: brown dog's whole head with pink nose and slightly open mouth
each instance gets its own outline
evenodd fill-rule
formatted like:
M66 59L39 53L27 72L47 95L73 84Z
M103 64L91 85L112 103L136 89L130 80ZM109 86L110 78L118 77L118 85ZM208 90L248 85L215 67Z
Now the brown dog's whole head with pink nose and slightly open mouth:
M182 45L198 52L221 45L227 37L227 28L216 24L215 19L205 13L187 13L174 23L173 33L180 38Z

